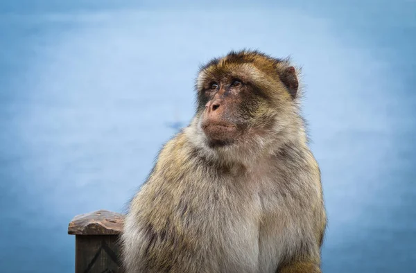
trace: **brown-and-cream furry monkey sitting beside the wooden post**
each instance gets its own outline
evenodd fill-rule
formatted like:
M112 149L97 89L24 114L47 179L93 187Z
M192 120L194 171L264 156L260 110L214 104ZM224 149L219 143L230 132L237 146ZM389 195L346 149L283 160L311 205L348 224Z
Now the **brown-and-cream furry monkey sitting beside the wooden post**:
M200 67L195 116L131 200L126 272L321 272L327 216L299 78L255 50Z

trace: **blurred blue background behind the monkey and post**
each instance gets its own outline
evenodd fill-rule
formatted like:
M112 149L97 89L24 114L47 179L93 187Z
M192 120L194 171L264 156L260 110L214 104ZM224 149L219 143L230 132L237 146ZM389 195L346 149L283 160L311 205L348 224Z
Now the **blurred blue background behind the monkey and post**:
M415 272L415 1L0 2L1 272L73 272L194 112L198 66L291 55L322 170L324 272Z

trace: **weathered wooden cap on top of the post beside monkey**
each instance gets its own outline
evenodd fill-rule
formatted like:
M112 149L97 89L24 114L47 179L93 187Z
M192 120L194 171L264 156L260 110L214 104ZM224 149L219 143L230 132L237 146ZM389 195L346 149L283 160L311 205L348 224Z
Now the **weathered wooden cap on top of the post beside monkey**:
M76 215L68 226L68 234L117 235L123 230L124 215L100 210Z

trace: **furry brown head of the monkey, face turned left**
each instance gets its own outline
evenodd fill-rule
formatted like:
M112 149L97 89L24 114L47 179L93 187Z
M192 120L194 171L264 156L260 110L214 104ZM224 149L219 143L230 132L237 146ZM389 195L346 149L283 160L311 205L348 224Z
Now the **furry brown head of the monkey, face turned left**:
M196 81L194 125L203 132L202 141L211 149L229 150L279 139L298 117L296 72L288 60L257 51L231 52L208 62Z

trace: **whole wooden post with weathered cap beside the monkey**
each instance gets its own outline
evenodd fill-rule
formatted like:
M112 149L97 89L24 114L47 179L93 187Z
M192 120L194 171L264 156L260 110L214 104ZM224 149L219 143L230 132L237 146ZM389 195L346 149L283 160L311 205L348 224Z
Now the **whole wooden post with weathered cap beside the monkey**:
M75 234L76 273L123 272L119 245L123 220L123 214L105 210L72 219L68 234Z

